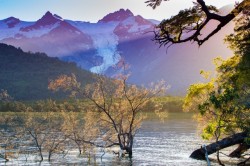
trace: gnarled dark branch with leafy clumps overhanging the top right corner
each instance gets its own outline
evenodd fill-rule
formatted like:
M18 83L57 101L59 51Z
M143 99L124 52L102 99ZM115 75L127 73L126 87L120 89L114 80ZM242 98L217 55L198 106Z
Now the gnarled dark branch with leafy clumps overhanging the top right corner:
M148 6L156 8L160 5L162 0L150 0L146 1ZM171 17L170 19L163 20L155 29L154 40L160 46L169 46L177 43L184 43L188 41L194 41L199 46L209 40L222 27L231 22L237 15L239 15L243 9L250 7L249 0L243 0L227 15L219 15L217 9L213 6L207 6L204 0L197 0L194 3L195 6L190 9L182 10L178 15ZM201 31L212 20L219 21L219 25L214 28L206 36L201 35ZM180 28L178 26L181 25ZM185 30L190 29L187 33ZM192 34L190 34L193 32Z

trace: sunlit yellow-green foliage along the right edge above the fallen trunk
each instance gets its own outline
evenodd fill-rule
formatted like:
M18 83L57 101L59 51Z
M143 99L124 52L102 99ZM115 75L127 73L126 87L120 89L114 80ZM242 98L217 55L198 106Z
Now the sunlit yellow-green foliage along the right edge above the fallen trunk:
M236 20L234 34L226 38L235 55L228 60L217 58L217 77L208 83L190 86L185 98L184 107L199 112L204 139L250 132L249 26L249 15L243 14Z

